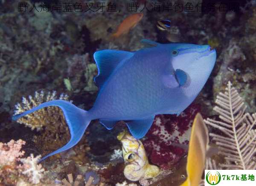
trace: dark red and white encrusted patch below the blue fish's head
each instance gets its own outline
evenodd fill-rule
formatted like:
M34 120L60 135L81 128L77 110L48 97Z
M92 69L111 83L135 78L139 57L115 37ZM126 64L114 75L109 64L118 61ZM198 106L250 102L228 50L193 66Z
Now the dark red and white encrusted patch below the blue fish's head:
M169 169L185 154L180 146L188 144L195 115L200 111L197 104L190 105L176 115L157 115L143 141L151 163Z

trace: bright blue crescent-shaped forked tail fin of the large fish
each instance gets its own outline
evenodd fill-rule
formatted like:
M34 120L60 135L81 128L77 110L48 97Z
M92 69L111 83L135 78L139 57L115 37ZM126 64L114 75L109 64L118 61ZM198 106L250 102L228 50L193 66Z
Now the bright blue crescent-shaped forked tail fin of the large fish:
M90 118L88 118L87 111L83 109L79 109L72 103L64 100L52 100L46 103L42 103L31 110L23 112L21 114L16 114L12 116L12 120L18 120L20 117L25 116L26 114L30 114L32 112L37 111L38 109L42 109L47 106L58 106L64 113L65 120L70 129L70 141L61 147L60 149L46 155L40 161L45 160L47 157L55 155L57 153L63 152L71 147L75 146L83 136L85 129L90 124Z

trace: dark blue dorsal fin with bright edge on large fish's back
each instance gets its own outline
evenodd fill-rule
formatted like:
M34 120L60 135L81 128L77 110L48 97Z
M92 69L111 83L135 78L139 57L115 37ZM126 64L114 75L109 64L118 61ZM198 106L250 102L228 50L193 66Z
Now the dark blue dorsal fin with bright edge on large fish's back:
M134 53L120 50L101 50L94 53L93 57L98 67L98 75L94 82L99 88L108 79L120 61L132 57Z

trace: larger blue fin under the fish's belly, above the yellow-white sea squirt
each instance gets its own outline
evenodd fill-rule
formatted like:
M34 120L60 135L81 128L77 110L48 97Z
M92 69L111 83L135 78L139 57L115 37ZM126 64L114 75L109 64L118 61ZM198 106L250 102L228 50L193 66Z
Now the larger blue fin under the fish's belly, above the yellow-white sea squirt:
M148 117L148 118L142 119L142 120L126 121L125 123L127 124L128 129L130 130L131 134L136 139L140 139L140 138L144 137L145 134L148 132L153 121L154 121L154 116Z

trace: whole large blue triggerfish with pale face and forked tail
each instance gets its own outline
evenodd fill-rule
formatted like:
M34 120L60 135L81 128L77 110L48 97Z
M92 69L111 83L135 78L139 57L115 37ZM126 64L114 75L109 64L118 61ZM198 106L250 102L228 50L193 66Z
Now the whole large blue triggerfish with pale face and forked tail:
M70 129L70 141L45 158L79 142L91 120L107 129L124 120L139 139L148 132L157 114L179 114L195 99L216 61L207 45L160 44L142 40L148 48L136 52L102 50L94 53L99 94L89 111L64 100L53 100L13 116L13 120L46 106L59 106Z

